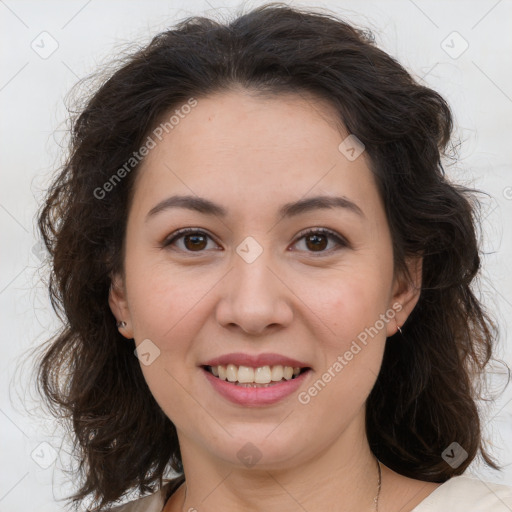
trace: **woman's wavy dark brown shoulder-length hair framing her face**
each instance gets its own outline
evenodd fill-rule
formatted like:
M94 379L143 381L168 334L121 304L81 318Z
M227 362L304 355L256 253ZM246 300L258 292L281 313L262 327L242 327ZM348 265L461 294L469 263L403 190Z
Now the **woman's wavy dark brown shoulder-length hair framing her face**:
M407 258L423 258L419 300L403 335L387 339L367 399L373 453L430 482L463 473L478 454L499 469L482 439L476 384L497 327L472 290L481 265L478 191L451 183L442 166L450 108L377 48L371 32L331 13L268 4L225 23L190 17L159 33L123 57L72 118L69 155L38 211L51 304L65 325L45 344L36 380L51 411L72 425L81 476L73 502L89 497L99 509L130 490L154 491L169 470L183 473L176 429L108 304L112 274L123 275L140 163L108 196L97 190L172 109L240 87L327 101L365 145L395 271L407 276ZM442 457L453 442L468 455L458 467Z

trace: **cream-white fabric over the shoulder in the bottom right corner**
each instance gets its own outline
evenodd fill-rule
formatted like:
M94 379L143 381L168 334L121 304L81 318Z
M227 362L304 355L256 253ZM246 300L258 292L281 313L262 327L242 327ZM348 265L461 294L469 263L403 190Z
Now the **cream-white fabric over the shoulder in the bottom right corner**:
M512 487L474 476L455 476L439 486L411 512L510 512Z

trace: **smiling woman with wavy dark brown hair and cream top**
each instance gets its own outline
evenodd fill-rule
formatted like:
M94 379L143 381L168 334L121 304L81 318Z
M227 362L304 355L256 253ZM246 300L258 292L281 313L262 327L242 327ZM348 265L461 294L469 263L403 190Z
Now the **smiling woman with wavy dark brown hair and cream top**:
M67 320L39 383L72 420L75 502L512 509L461 476L479 454L498 469L475 401L496 332L451 128L326 14L191 18L128 57L39 217Z

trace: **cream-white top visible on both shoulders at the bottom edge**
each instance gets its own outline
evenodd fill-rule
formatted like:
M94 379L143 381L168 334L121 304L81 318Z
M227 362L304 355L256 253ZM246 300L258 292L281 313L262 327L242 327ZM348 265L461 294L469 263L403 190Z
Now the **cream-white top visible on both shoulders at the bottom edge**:
M144 498L120 505L112 512L162 512L172 482ZM430 493L411 512L512 512L512 487L454 476Z

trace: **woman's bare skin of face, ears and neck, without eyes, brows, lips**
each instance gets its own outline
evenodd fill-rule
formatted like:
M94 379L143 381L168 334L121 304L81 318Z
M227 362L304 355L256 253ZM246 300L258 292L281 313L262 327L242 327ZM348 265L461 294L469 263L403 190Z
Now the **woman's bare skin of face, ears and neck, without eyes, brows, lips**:
M349 161L338 150L346 136L318 99L233 90L199 98L138 171L124 275L112 276L109 303L127 323L126 338L137 345L150 339L160 350L141 368L176 426L187 480L186 500L182 486L166 512L374 509L378 473L364 405L386 337L418 300L421 261L408 262L412 281L395 275L367 155ZM229 213L220 218L174 208L146 221L157 203L175 194L207 198ZM364 215L345 208L277 215L284 203L324 194L348 198ZM162 247L184 227L209 235L200 249L183 237ZM349 245L321 235L324 245L315 250L298 237L322 227ZM247 236L263 249L250 264L236 252ZM396 303L396 317L301 404L298 393ZM220 396L199 367L230 352L284 354L313 370L297 393L277 404L244 407ZM237 457L247 442L261 454L252 467ZM379 510L412 510L438 485L382 465Z

